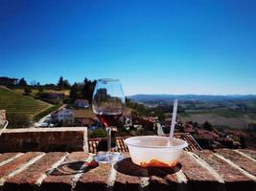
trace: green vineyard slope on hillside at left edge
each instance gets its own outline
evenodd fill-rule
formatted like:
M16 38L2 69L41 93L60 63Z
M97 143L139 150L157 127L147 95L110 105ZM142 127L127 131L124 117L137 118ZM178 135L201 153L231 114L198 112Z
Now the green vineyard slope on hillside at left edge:
M26 115L34 117L36 114L52 106L31 96L22 96L12 90L0 88L0 110L6 110L7 115Z

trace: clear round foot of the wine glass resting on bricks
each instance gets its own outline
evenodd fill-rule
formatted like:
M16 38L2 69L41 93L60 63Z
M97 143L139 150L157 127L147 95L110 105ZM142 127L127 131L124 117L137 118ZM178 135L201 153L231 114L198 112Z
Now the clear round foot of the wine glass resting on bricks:
M114 152L98 152L94 159L99 163L114 163L122 160L123 156Z

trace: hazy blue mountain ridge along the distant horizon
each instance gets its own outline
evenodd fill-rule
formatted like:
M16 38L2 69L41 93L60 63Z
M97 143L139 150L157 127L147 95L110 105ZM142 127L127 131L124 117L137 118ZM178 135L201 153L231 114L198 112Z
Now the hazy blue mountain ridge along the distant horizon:
M212 95L134 95L128 96L132 101L147 102L147 101L172 101L175 98L198 101L222 101L222 100L256 100L256 95L230 95L230 96L212 96Z

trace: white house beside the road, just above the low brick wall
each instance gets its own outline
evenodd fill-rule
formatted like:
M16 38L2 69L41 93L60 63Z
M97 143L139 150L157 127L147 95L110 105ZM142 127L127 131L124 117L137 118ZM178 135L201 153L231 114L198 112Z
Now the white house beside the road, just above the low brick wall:
M75 115L69 109L60 109L52 114L53 122L74 122Z

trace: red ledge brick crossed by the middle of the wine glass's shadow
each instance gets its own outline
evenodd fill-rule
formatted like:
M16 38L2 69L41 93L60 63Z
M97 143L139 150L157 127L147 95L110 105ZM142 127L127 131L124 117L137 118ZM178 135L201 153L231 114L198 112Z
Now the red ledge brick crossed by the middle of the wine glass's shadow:
M78 170L87 158L88 154L84 152L71 153L51 175L42 181L41 190L70 191L72 179L78 174Z

